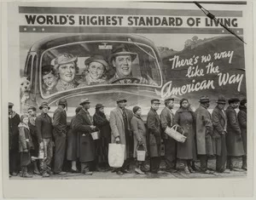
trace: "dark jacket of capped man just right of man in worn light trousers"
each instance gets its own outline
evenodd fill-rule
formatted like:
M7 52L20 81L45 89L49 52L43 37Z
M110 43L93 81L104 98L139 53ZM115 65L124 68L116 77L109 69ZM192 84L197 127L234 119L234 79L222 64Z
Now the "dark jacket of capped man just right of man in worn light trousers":
M53 116L54 136L62 136L62 134L67 134L67 113L63 108L58 107L55 110Z

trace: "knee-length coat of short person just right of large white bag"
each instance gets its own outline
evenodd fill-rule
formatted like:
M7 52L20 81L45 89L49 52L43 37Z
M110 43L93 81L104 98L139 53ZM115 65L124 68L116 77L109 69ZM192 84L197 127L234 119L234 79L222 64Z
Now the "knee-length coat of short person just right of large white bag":
M141 117L134 115L131 118L131 130L133 132L134 147L133 157L137 157L138 140L142 140L145 151L147 151L146 133L147 129Z

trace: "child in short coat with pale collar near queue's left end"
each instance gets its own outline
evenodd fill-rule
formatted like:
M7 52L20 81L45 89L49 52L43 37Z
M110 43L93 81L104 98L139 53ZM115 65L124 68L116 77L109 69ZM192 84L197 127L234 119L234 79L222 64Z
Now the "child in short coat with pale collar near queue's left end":
M32 178L27 173L27 166L31 163L30 151L33 149L32 136L28 128L28 115L24 114L20 117L19 124L19 150L20 150L20 166L21 177Z

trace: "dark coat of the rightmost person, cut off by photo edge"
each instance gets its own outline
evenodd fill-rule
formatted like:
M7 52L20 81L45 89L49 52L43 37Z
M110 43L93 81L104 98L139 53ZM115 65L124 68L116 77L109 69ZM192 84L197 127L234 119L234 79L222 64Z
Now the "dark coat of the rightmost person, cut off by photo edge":
M247 154L247 107L239 106L237 118L241 129L241 138L243 143L243 150Z

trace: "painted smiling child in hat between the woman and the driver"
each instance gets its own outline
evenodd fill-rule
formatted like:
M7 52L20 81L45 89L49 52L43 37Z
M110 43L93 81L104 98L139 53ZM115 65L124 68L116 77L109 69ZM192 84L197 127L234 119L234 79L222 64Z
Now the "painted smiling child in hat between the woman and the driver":
M92 55L89 59L85 60L85 77L80 87L87 85L107 83L106 72L108 71L108 63L102 55Z

